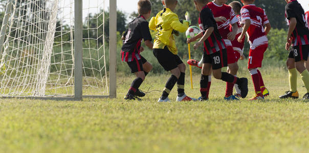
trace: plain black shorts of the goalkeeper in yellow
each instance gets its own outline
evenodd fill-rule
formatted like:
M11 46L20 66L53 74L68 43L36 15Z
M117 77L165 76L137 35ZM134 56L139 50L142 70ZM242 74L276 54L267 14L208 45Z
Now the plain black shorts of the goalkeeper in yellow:
M167 47L164 47L164 49L154 48L153 55L166 71L170 71L183 63L179 56L172 54Z

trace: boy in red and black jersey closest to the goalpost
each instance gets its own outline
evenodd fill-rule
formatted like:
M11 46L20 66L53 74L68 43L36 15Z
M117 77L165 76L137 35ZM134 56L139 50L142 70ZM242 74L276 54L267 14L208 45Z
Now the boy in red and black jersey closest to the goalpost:
M148 22L146 19L151 14L151 3L149 0L140 0L138 2L139 16L128 24L127 31L123 34L122 40L124 40L121 48L121 60L127 62L131 68L131 72L136 74L136 79L132 82L131 87L128 90L124 99L135 100L143 97L145 93L139 90L139 87L145 80L146 75L152 69L150 63L146 61L140 55L143 51L141 42L144 39L146 46L152 49L152 38L148 28Z

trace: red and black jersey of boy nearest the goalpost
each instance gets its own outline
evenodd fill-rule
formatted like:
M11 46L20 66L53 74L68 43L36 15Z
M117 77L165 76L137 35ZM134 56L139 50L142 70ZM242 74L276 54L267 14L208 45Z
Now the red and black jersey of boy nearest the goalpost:
M121 48L121 60L131 62L140 60L140 48L142 40L152 41L152 37L148 27L149 23L143 16L135 18L128 24L128 29L123 34L125 40Z

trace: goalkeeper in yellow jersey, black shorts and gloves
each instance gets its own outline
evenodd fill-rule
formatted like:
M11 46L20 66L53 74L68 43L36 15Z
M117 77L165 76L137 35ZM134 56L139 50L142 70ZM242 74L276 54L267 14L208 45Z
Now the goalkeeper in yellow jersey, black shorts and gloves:
M173 36L175 31L186 32L189 27L189 18L186 16L187 20L181 23L178 15L172 12L178 4L177 0L163 0L162 3L165 6L164 9L156 17L151 18L149 28L158 32L154 40L153 55L157 58L161 66L166 71L170 71L172 75L166 82L164 91L158 102L170 101L168 95L176 82L178 86L176 101L195 100L185 94L186 65L177 55L178 50Z

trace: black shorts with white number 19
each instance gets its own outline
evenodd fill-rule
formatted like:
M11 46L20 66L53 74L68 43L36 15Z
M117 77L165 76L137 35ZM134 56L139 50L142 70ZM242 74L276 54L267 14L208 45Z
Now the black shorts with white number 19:
M212 69L219 69L228 66L227 49L222 49L220 52L216 52L207 55L204 52L203 63L212 64Z

